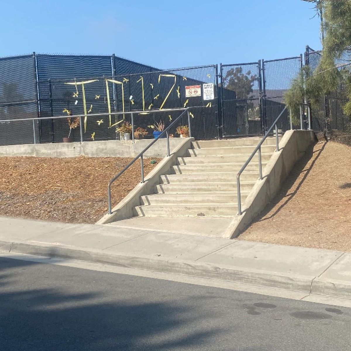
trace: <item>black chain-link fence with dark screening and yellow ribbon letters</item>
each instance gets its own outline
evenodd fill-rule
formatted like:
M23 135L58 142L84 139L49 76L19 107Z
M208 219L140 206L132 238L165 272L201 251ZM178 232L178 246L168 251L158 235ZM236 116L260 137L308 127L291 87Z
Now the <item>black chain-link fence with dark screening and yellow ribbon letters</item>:
M305 65L315 70L321 55L307 46ZM350 52L338 57L338 70L349 69L344 66ZM217 65L160 70L115 55L0 58L0 145L62 142L69 115L80 115L84 125L82 138L80 128L72 129L73 141L119 139L116 128L131 122L131 112L134 129L144 128L145 138L153 138L151 126L162 121L167 127L181 113L174 109L186 107L197 140L263 135L284 109L285 92L302 67L302 55L220 64L219 72ZM351 139L346 101L340 83L312 107L313 129L328 138ZM51 118L56 116L66 118ZM286 111L279 132L290 128L289 117ZM179 125L187 125L186 114ZM170 131L175 137L176 127Z

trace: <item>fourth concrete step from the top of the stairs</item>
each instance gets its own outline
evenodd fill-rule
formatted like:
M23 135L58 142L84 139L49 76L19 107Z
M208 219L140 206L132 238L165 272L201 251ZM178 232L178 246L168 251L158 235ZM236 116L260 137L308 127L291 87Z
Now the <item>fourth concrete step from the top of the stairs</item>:
M266 162L262 162L262 167L265 167ZM243 163L225 163L225 164L202 164L202 165L181 165L172 166L173 174L191 174L191 173L208 173L216 171L222 172L235 172L238 173L243 167ZM250 162L245 171L258 171L258 162Z

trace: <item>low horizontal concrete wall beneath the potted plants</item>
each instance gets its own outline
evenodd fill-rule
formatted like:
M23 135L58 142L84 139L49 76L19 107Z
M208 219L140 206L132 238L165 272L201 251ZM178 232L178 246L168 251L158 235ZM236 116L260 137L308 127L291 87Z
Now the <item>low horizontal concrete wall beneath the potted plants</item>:
M0 157L7 156L35 156L35 157L135 157L154 139L135 140L108 140L85 141L72 143L45 143L25 145L0 146ZM184 138L171 138L171 150L182 145ZM145 157L165 157L167 154L166 139L158 140L148 151Z

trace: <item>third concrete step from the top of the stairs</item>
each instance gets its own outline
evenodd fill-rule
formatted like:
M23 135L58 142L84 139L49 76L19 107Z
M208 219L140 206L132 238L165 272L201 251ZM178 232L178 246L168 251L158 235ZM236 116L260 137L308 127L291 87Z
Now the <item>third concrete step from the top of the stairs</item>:
M216 164L216 163L233 163L242 162L244 164L251 154L237 154L237 155L218 155L218 156L195 156L178 157L178 165L198 165L198 164ZM272 153L262 153L262 162L270 160ZM258 153L254 155L252 162L258 162Z

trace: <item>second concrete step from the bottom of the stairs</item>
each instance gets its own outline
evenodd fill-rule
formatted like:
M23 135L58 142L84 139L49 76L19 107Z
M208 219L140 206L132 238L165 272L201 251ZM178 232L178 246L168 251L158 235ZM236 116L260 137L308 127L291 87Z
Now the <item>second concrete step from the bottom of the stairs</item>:
M241 201L247 197L247 192L241 193ZM181 194L152 194L141 196L141 205L168 205L168 204L228 204L237 203L236 192L184 192Z

